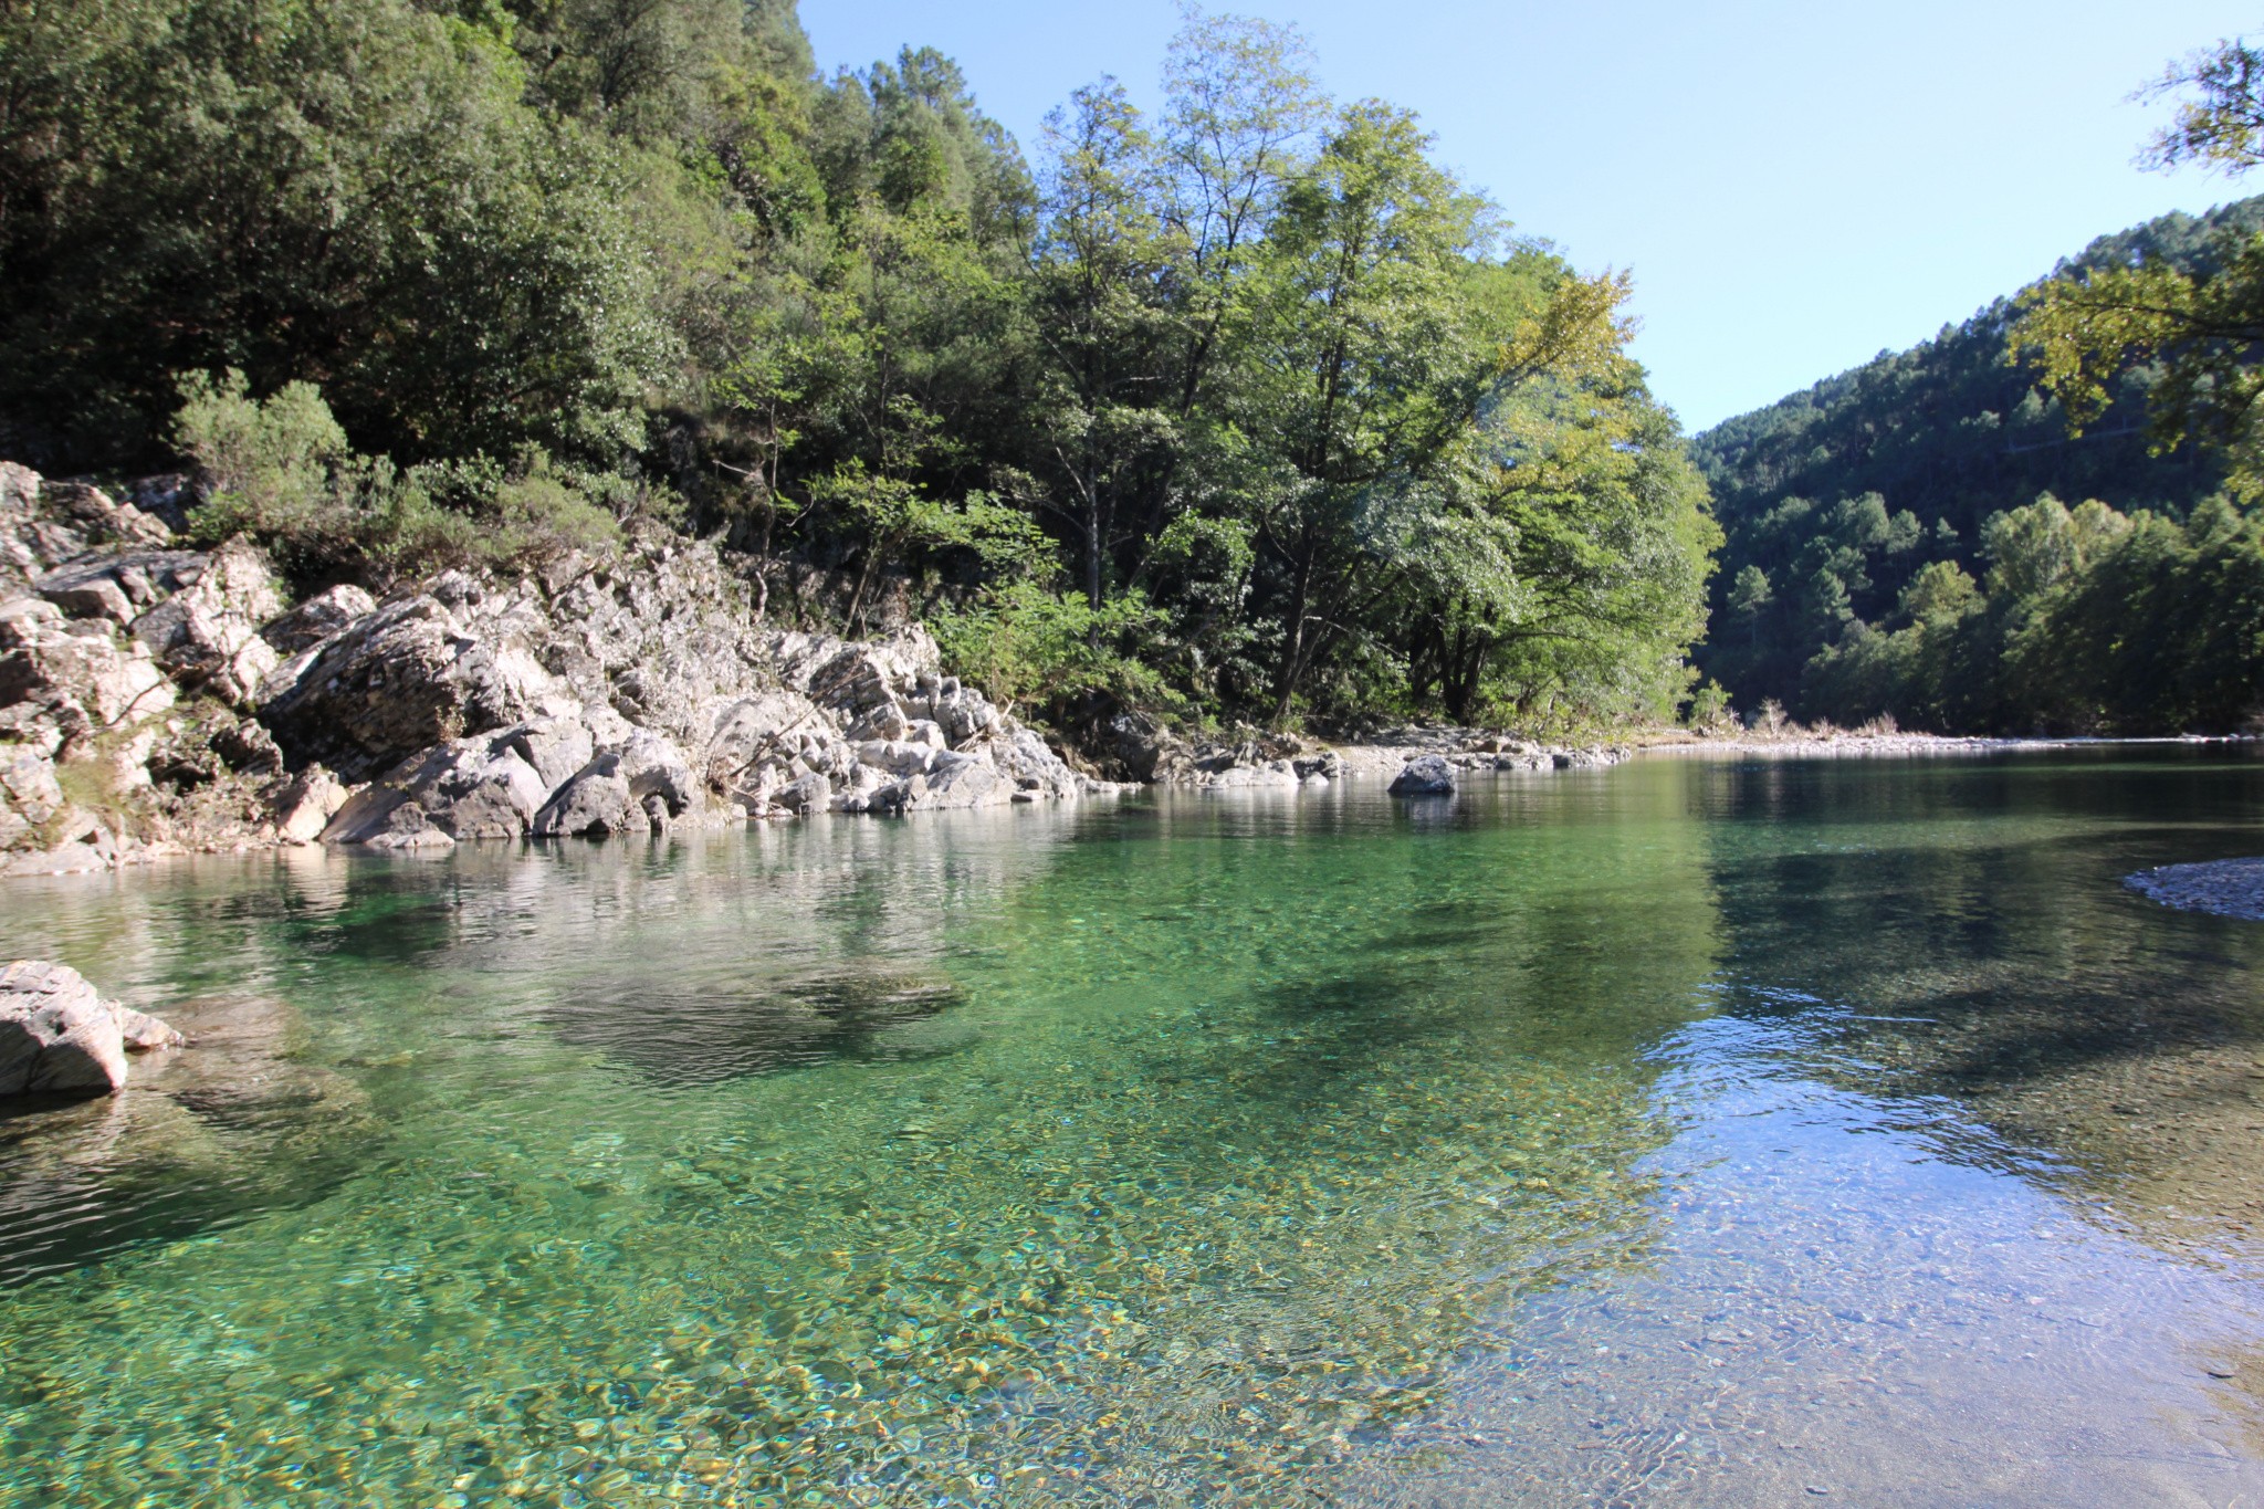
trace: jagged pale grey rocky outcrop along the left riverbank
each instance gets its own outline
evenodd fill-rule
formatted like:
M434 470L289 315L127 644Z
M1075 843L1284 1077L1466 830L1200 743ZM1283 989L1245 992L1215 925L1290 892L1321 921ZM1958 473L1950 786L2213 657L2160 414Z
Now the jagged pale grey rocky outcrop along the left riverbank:
M0 464L0 873L1114 790L919 629L765 627L706 543L290 606L256 550L179 545L177 489L136 495Z

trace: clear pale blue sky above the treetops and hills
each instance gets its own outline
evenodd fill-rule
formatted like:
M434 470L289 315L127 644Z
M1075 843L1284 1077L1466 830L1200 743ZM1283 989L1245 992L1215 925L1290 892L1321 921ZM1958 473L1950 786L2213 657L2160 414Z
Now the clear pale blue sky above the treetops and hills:
M1438 156L1583 269L1630 267L1637 355L1700 430L2051 269L2090 238L2264 192L2139 172L2128 95L2264 7L2216 0L1247 0L1338 97L1422 113ZM1170 0L801 0L824 70L926 43L1026 149L1071 88L1152 102Z

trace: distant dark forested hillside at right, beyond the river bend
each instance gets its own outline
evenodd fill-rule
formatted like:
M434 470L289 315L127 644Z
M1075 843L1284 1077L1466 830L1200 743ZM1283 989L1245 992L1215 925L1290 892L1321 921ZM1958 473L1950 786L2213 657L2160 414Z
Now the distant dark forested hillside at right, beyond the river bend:
M2133 538L2180 559L2216 559L2228 532L2253 536L2230 505L2196 516L2226 486L2226 457L2151 423L2155 360L2112 367L2099 412L2072 428L2024 360L2019 319L2042 287L2094 269L2173 267L2207 283L2259 228L2264 199L2244 199L2106 235L2029 294L1696 437L1727 534L1705 672L1739 708L1775 699L1838 722L1884 713L2019 733L2239 724L2257 692L2230 624L2203 652L2194 636L2210 633L2205 622L2139 627L2135 604L2110 602L2096 581L2076 595L2072 581L2137 516ZM2187 561L2171 575L2198 572L2178 581L2201 590L2223 568ZM2158 577L2169 570L2158 561ZM2167 604L2185 588L2162 577L2146 590ZM2210 602L2185 609L2210 613Z

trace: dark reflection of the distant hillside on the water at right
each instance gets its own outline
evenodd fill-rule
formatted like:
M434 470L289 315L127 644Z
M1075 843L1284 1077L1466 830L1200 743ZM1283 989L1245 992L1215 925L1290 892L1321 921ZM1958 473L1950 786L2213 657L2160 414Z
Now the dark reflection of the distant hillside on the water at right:
M1823 1079L1956 1097L1995 1136L1938 1124L1945 1156L2072 1179L2158 1238L2248 1244L2264 930L2121 876L2264 846L2250 765L1707 776L1723 812L1777 824L1716 830L1727 1011L1782 1016Z

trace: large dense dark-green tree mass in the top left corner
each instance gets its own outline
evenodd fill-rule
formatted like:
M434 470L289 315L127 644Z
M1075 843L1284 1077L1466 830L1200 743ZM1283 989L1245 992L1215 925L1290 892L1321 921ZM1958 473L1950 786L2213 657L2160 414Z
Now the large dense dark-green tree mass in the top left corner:
M500 29L405 0L0 16L0 414L61 466L161 452L172 373L321 382L408 455L641 434L672 339L602 140Z

